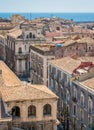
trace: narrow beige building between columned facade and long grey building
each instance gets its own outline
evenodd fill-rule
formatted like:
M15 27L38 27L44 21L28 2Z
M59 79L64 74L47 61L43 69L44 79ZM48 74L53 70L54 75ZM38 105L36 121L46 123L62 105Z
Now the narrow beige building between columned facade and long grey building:
M48 61L55 59L50 45L30 46L30 80L33 84L48 86Z

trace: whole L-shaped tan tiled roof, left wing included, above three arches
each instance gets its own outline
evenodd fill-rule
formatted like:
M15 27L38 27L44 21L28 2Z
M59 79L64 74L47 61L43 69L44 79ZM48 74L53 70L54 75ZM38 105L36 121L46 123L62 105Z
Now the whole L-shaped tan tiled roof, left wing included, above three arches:
M0 93L5 102L57 98L44 85L23 84L2 61L0 61L0 69L2 70L2 74L0 74Z

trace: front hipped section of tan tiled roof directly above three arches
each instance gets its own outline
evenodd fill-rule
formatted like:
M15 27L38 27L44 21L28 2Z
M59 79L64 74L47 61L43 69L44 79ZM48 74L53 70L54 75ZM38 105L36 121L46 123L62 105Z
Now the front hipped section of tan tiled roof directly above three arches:
M57 98L57 96L44 85L0 87L0 92L5 102Z

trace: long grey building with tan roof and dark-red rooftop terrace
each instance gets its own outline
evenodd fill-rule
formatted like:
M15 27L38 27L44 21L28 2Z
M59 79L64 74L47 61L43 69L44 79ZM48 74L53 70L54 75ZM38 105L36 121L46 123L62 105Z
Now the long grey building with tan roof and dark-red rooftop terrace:
M65 129L94 127L93 61L93 57L65 57L49 63L49 88L59 96L58 118Z

